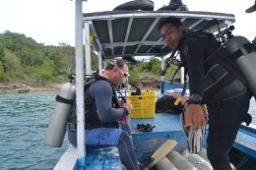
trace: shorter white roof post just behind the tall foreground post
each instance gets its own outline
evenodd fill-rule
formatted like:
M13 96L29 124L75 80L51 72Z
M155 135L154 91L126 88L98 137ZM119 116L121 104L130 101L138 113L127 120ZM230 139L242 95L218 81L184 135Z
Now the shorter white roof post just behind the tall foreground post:
M84 23L85 29L85 55L86 55L86 70L87 75L92 75L91 68L91 42L90 42L90 25L89 21Z

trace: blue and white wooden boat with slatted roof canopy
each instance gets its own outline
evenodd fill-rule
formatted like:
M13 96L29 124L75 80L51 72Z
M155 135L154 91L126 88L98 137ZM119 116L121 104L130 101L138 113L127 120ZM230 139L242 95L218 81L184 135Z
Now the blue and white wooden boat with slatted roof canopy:
M177 17L186 28L199 29L213 19L219 20L222 28L229 28L235 22L235 17L232 14L215 12L166 10L105 11L83 14L82 3L82 0L76 0L75 5L76 91L81 94L76 95L78 147L70 144L55 165L54 170L120 170L122 169L122 164L115 147L100 149L86 149L85 147L83 39L86 46L86 71L89 74L91 73L91 44L95 46L98 53L99 71L102 71L102 63L104 63L105 59L124 56L158 56L162 59L161 64L163 68L164 56L169 55L171 51L164 44L160 33L155 28L162 18L169 16ZM208 25L205 29L210 32L217 31L217 27L214 24ZM161 80L158 97L165 95L167 90L182 86L182 82L170 84L164 81L163 77ZM150 158L160 145L168 140L175 140L177 142L173 151L176 151L177 155L181 155L187 149L187 139L181 131L179 122L180 115L177 113L155 113L153 118L129 117L128 124L131 128L138 161ZM152 132L140 132L137 129L138 124L152 124L156 128ZM206 132L208 132L208 129ZM244 123L241 124L236 140L232 145L232 152L230 153L234 155L233 157L238 157L236 162L232 163L235 166L233 169L251 170L255 168L255 141L256 127L252 125L246 126ZM206 148L206 142L204 148ZM172 152L172 154L176 153ZM160 161L161 164L166 161L165 158ZM200 161L196 164L200 164ZM158 168L160 163L157 164ZM193 164L193 166L196 167L196 164Z

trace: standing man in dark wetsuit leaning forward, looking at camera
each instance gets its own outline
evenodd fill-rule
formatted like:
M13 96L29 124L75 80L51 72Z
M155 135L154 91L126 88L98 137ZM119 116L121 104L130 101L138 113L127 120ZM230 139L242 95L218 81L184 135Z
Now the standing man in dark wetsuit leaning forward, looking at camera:
M231 170L228 152L251 98L247 82L212 33L192 35L192 30L172 17L160 21L158 28L163 41L172 50L180 51L182 64L189 74L190 99L185 127L198 130L206 124L201 104L207 104L208 158L215 170Z

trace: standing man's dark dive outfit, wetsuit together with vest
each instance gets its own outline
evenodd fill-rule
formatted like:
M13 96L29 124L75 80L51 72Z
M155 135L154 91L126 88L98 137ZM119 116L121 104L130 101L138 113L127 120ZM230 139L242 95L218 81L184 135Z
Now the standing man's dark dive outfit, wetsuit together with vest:
M208 158L214 169L231 170L228 152L248 111L251 94L226 50L221 47L215 53L219 48L214 35L203 34L185 39L179 50L189 74L190 94L200 94L207 103Z

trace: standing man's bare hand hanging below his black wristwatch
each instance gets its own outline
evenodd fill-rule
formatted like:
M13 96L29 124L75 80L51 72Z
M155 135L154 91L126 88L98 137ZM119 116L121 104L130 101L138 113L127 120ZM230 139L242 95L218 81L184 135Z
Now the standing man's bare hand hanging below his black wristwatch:
M192 126L197 131L206 124L206 115L200 104L189 104L185 111L185 127Z

